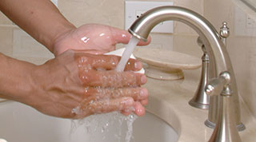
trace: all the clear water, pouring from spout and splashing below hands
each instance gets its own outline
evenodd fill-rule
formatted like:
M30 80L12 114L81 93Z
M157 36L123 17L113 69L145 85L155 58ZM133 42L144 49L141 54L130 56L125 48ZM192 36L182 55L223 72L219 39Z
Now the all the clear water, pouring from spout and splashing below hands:
M122 53L122 58L119 61L116 70L118 72L122 72L125 69L126 63L130 58L130 55L133 53L135 46L138 44L139 39L137 37L132 37L129 41L129 44L126 45L125 51ZM86 68L87 69L87 68ZM86 70L85 69L85 70ZM104 77L103 77L104 79ZM106 77L107 79L107 77ZM116 81L117 78L113 78L113 83ZM103 81L104 82L104 81ZM105 92L102 92L102 89L97 89L99 94L105 94ZM117 94L120 95L120 94ZM107 98L105 98L107 99ZM131 110L134 110L134 108L130 108ZM74 108L72 110L75 114L79 114L81 112L80 107ZM130 142L130 140L133 139L133 123L134 120L136 120L138 116L135 116L134 114L130 114L130 116L123 116L119 112L111 112L106 114L100 114L100 115L93 115L93 116L87 116L86 118L82 120L72 120L71 123L71 130L70 133L74 133L75 130L84 125L85 130L88 134L90 134L90 140L94 139L97 136L94 136L94 133L97 133L97 131L100 131L101 133L104 133L105 135L102 137L102 140L106 139L107 132L110 132L111 128L119 128L120 131L118 131L117 134L114 135L116 139L118 139L119 142L124 141L122 136L122 124L124 121L126 121L127 124L127 131L125 136L125 142ZM106 118L109 118L106 120ZM115 124L118 121L118 124Z

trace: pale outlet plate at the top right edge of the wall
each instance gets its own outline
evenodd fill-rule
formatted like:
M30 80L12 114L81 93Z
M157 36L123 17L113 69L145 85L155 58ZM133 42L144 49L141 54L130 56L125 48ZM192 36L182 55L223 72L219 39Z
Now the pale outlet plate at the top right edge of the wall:
M256 37L256 22L238 7L234 8L234 34Z

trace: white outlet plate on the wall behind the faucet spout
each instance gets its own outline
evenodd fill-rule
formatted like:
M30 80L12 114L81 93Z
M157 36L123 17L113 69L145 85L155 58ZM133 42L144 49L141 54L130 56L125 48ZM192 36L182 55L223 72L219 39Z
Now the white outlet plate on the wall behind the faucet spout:
M173 6L174 2L143 2L128 1L125 2L125 29L128 30L131 24L144 12L158 6ZM162 22L152 30L154 33L174 33L174 22Z

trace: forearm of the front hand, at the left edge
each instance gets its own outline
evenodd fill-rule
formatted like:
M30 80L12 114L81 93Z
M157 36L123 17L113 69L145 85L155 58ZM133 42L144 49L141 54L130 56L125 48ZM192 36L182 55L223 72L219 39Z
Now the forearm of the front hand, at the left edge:
M0 94L1 96L24 103L29 95L33 95L31 73L36 65L26 61L18 61L0 53Z

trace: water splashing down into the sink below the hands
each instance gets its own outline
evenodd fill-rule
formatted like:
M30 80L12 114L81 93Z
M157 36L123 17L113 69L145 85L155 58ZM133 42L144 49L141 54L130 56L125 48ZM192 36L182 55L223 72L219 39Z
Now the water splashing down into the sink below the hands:
M74 136L75 139L79 136L76 135L76 130L82 128L83 131L80 134L86 134L89 137L80 139L80 141L130 142L134 140L132 124L137 117L135 115L123 116L119 112L110 112L87 116L82 120L72 120L70 136Z

